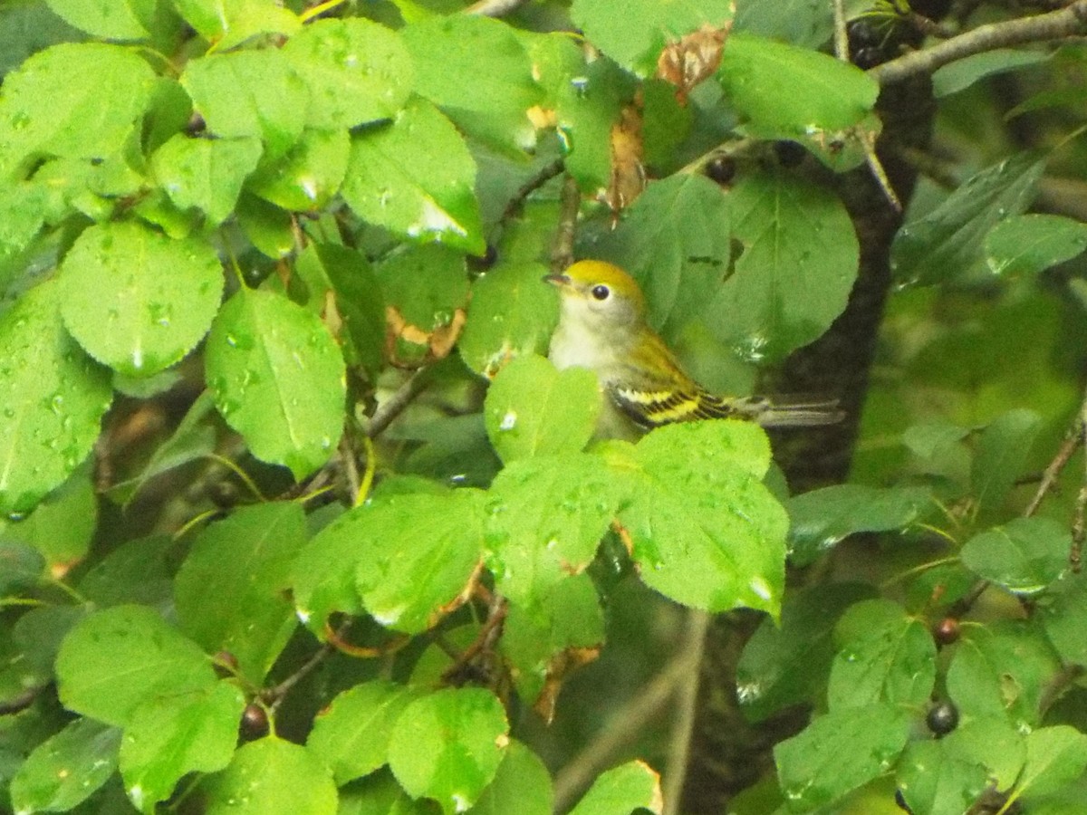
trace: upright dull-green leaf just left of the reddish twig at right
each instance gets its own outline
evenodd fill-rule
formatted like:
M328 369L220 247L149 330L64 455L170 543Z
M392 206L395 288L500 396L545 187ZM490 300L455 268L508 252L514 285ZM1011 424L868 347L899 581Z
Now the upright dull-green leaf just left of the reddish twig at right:
M1000 509L1023 466L1038 430L1041 416L1034 411L1014 410L998 416L982 432L971 465L971 488L983 514Z

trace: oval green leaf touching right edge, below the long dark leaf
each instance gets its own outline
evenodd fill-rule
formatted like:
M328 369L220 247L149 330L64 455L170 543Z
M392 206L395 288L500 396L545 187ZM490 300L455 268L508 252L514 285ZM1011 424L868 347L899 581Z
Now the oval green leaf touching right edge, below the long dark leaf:
M1087 224L1061 215L1015 215L985 236L985 260L997 275L1035 275L1087 249Z

